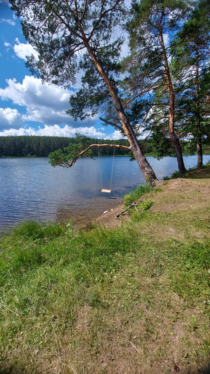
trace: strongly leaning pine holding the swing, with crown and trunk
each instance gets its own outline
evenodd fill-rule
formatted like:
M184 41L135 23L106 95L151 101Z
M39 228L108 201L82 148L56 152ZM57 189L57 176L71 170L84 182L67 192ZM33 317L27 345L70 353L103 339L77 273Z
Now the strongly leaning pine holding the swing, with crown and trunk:
M128 137L129 150L145 180L156 184L156 175L142 153L117 94L116 76L123 40L115 39L114 34L126 15L123 0L10 0L10 3L16 15L22 17L26 40L39 54L38 61L31 56L26 62L32 73L43 82L69 88L76 81L78 69L82 69L82 89L70 98L72 108L68 113L75 119L83 119L93 116L102 105L113 102L122 131ZM56 165L60 165L63 157L65 166L72 166L81 152L86 151L83 140L81 148L75 147L69 152L72 158L68 165L65 154L59 151ZM51 157L55 163L56 154Z

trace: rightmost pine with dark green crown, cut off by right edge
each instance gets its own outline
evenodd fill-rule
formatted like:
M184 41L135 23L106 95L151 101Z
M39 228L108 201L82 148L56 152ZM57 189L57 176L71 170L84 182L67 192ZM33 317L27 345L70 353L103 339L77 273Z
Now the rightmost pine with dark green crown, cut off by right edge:
M210 5L201 0L176 35L171 63L177 81L177 121L185 136L197 143L198 166L203 165L202 140L209 137L209 51Z

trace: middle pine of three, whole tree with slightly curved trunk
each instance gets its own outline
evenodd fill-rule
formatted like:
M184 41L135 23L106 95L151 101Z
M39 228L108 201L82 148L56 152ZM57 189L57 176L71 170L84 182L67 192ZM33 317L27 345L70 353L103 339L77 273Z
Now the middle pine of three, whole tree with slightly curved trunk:
M175 88L169 68L170 45L174 33L189 11L184 0L141 0L132 3L132 19L127 25L131 53L124 61L129 76L124 81L126 106L146 130L167 121L179 172L186 172L179 138L175 134Z

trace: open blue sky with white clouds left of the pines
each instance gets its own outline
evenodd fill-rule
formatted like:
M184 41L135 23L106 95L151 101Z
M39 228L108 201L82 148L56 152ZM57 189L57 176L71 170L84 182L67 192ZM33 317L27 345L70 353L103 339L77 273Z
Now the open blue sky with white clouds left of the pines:
M37 55L26 42L20 20L10 9L9 1L0 0L0 136L74 137L79 132L93 138L121 138L112 126L103 126L98 115L75 122L66 114L70 107L69 96L75 89L71 92L56 85L42 84L32 76L25 67L25 56L32 53Z

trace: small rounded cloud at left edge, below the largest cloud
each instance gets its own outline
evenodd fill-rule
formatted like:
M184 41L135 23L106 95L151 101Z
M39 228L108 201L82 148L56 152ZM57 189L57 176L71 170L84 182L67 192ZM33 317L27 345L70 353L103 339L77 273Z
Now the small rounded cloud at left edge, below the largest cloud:
M0 128L19 128L21 125L21 114L17 109L0 108Z

